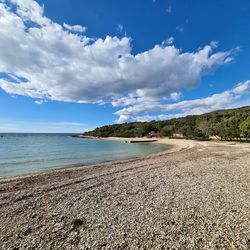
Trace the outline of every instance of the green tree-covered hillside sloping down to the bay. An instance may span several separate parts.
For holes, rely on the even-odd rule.
[[[249,140],[250,106],[190,115],[166,121],[114,124],[85,132],[95,137],[143,137],[149,134],[188,139]]]

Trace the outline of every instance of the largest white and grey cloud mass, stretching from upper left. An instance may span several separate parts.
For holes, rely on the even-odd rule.
[[[121,25],[118,28],[123,30]],[[132,54],[129,37],[93,39],[85,30],[81,25],[53,22],[36,1],[0,0],[0,47],[4,48],[0,72],[7,76],[0,78],[0,88],[34,98],[37,104],[111,103],[124,107],[117,111],[121,120],[145,120],[150,119],[149,112],[174,109],[163,103],[179,100],[181,90],[230,63],[235,53],[235,49],[215,52],[215,42],[183,52],[170,37]],[[238,86],[235,91],[239,95],[245,89]],[[181,102],[175,105],[177,109]]]

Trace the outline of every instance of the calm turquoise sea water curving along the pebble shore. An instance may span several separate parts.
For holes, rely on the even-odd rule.
[[[169,146],[73,138],[66,134],[0,134],[0,177],[133,158]]]

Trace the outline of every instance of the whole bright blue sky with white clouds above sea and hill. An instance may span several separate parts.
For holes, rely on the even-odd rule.
[[[250,1],[0,0],[0,132],[250,105]]]

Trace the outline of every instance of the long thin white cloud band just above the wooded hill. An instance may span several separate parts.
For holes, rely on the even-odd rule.
[[[140,120],[166,120],[187,115],[198,115],[218,109],[233,108],[250,104],[250,80],[238,83],[234,88],[205,98],[185,100],[177,103],[162,104],[159,102],[137,103],[118,110],[117,123]],[[244,101],[243,101],[244,97]],[[246,98],[245,98],[246,97]],[[247,98],[248,97],[248,98]],[[164,114],[163,112],[174,112]],[[148,113],[163,113],[148,115]]]

